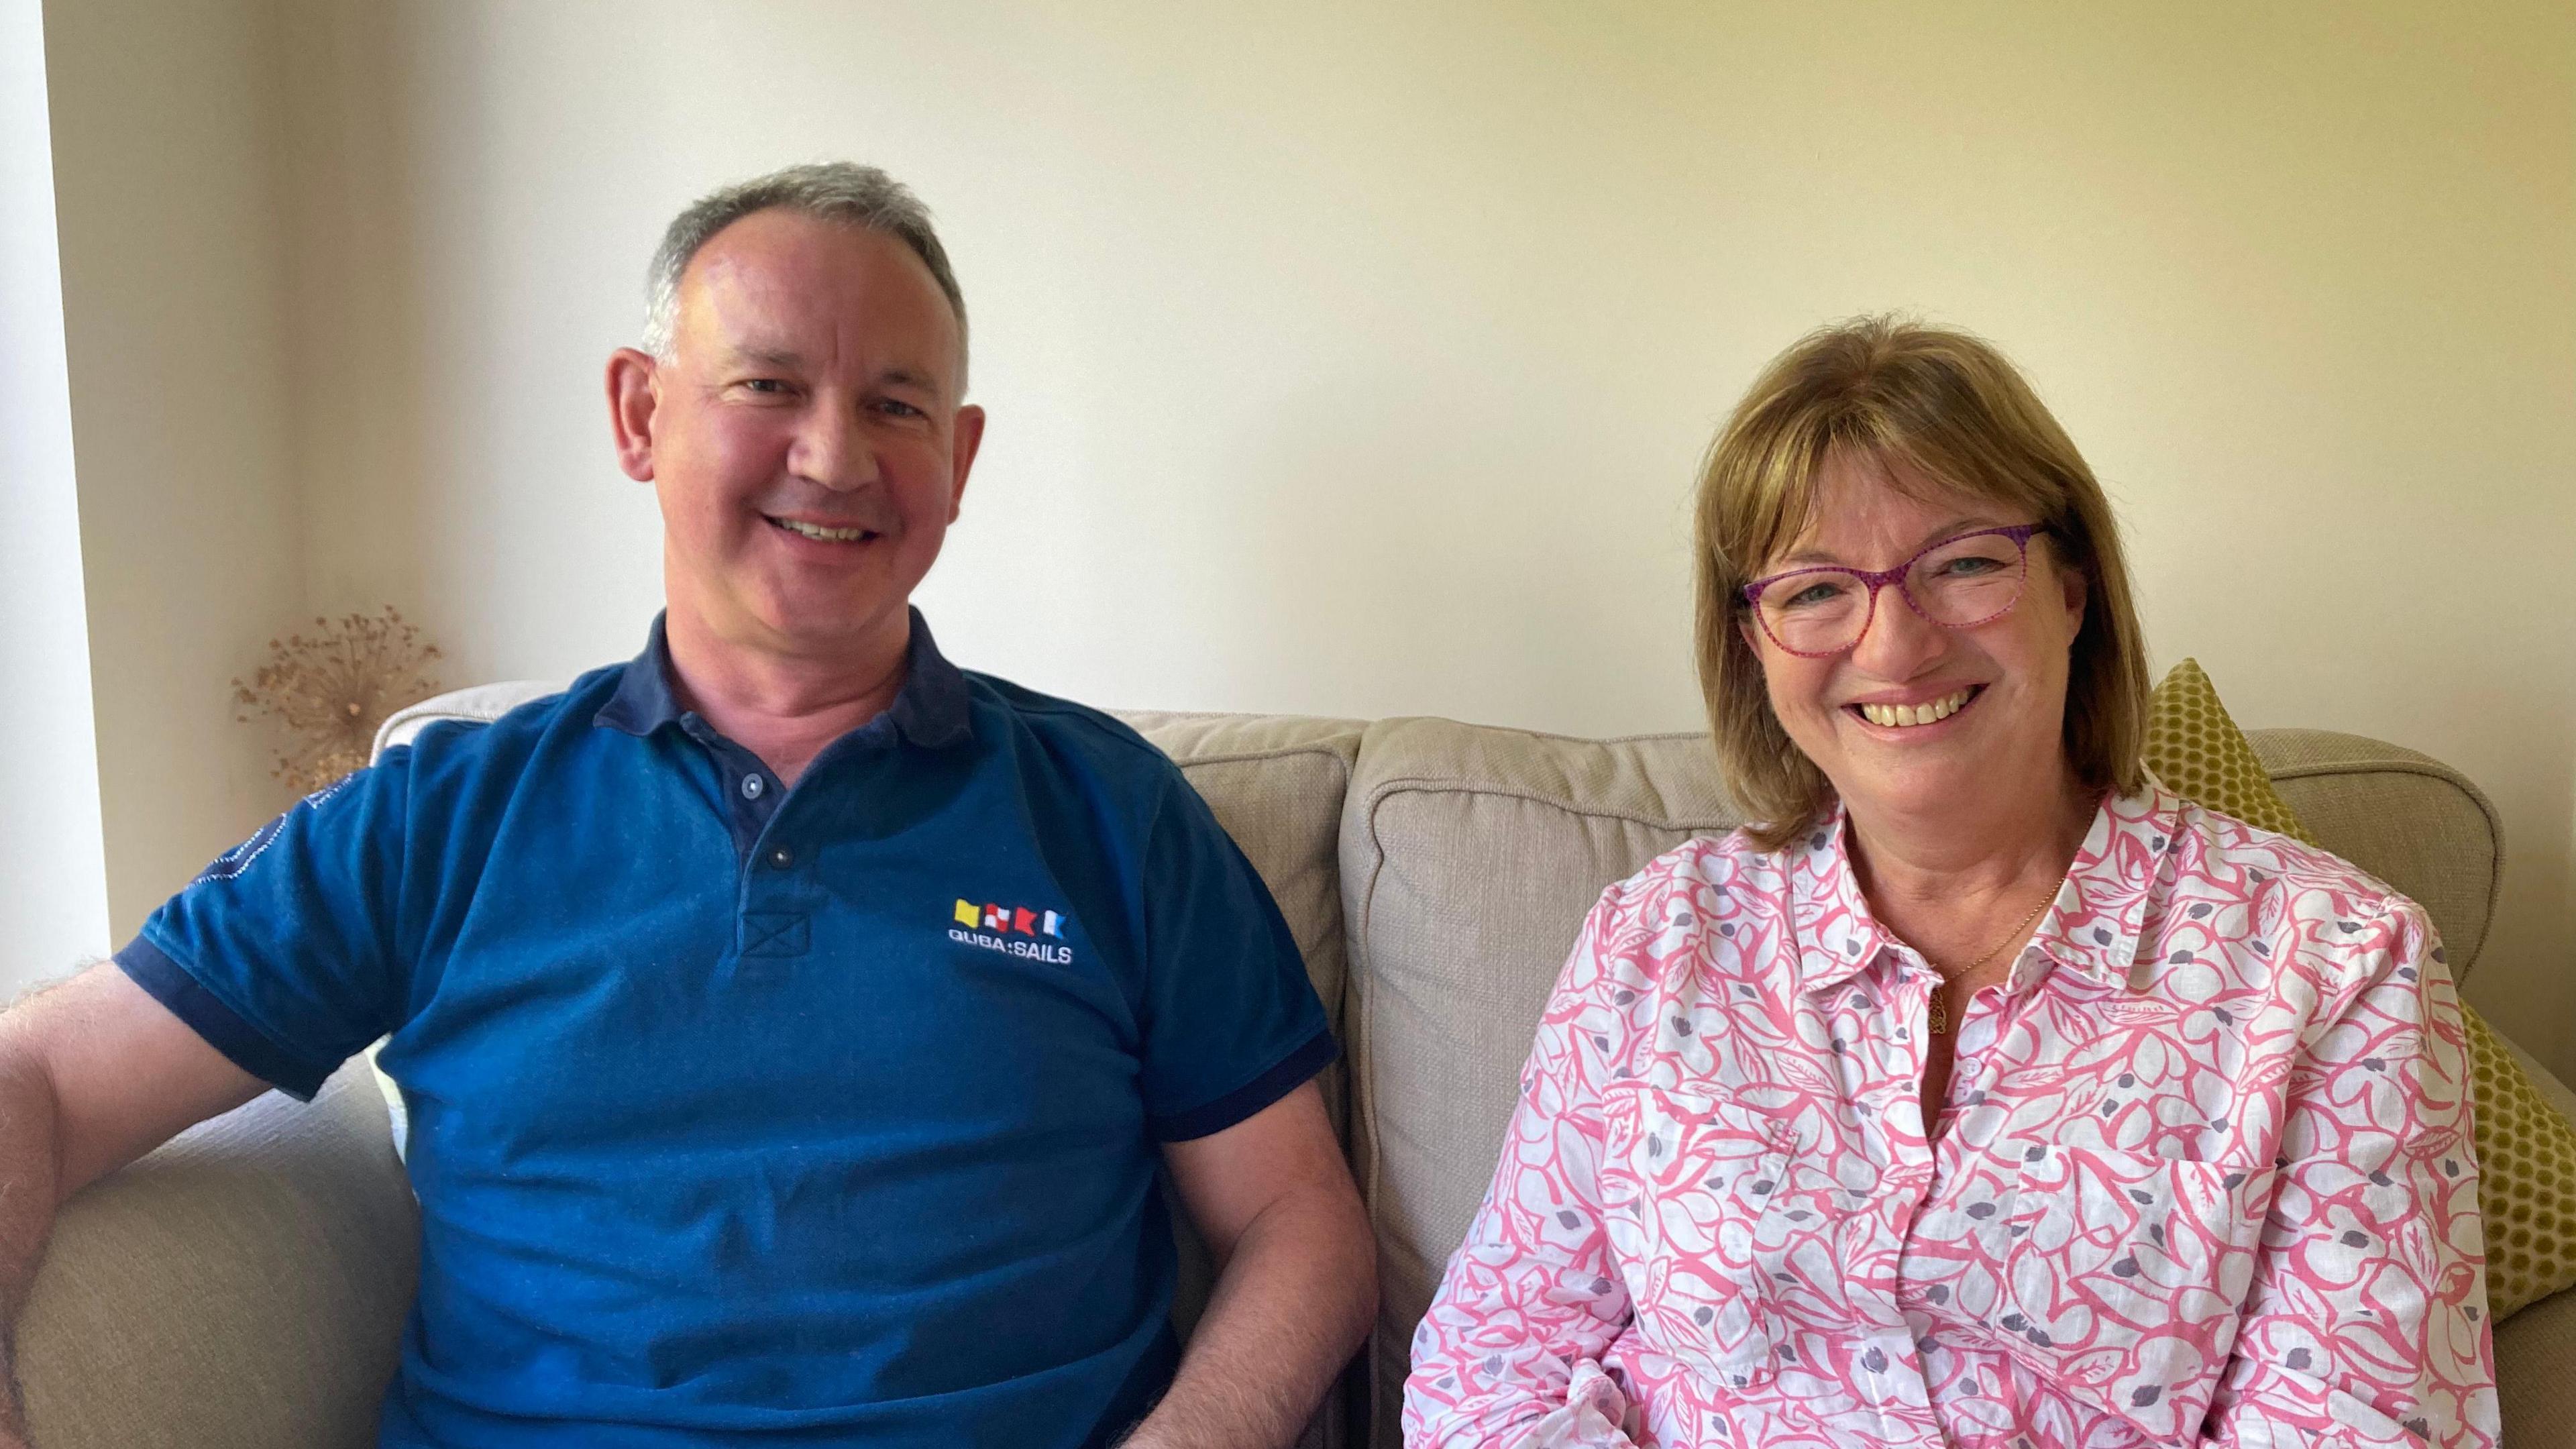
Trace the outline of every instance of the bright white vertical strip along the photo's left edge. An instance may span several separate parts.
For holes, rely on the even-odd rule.
[[[0,1000],[108,949],[44,5],[0,0]]]

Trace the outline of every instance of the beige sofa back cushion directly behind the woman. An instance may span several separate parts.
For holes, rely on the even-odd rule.
[[[2468,969],[2494,812],[2447,766],[2352,735],[2257,732],[2331,851],[2432,913]],[[1394,1446],[1414,1325],[1484,1199],[1538,1013],[1584,913],[1690,835],[1739,825],[1703,735],[1569,740],[1383,719],[1342,812],[1352,1158],[1378,1230],[1370,1444]]]

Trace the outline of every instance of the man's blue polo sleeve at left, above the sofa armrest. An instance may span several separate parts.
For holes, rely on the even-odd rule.
[[[309,1098],[394,1026],[410,750],[270,820],[116,951],[245,1073]]]

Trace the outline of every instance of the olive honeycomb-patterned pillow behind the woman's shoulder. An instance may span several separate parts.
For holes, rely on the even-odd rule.
[[[2148,696],[2146,768],[2164,789],[2246,825],[2316,846],[2197,660]],[[2514,1310],[2576,1287],[2576,1124],[2553,1109],[2496,1031],[2460,1003],[2486,1220],[2486,1310]]]

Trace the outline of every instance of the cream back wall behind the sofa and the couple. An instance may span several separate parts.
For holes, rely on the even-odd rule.
[[[289,456],[301,606],[402,603],[453,681],[636,647],[598,369],[662,219],[778,162],[940,211],[994,428],[922,601],[1103,704],[1687,727],[1698,449],[1906,307],[2087,446],[2159,663],[2496,797],[2470,995],[2576,1067],[2563,5],[278,5],[291,405],[234,454]]]

